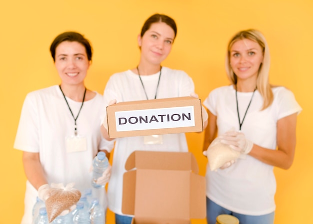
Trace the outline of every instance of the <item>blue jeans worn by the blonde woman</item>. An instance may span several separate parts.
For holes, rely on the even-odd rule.
[[[273,224],[274,212],[263,216],[248,216],[239,213],[231,212],[217,205],[206,197],[206,220],[207,224],[215,224],[216,217],[222,214],[227,214],[236,217],[239,224]]]

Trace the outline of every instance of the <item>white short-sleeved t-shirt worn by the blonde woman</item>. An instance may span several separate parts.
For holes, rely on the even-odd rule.
[[[277,121],[301,107],[291,91],[284,87],[272,88],[274,100],[265,110],[260,110],[263,99],[256,90],[241,126],[241,132],[254,144],[276,149]],[[237,92],[240,122],[251,99],[252,92]],[[203,102],[217,116],[218,135],[232,127],[239,130],[235,90],[232,85],[214,89]],[[275,210],[276,181],[273,166],[247,155],[227,169],[217,172],[206,168],[206,195],[227,210],[252,216]]]

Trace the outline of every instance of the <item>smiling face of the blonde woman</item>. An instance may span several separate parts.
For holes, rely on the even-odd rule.
[[[263,61],[261,46],[250,39],[239,39],[233,43],[229,51],[231,69],[237,81],[256,81],[259,67]]]

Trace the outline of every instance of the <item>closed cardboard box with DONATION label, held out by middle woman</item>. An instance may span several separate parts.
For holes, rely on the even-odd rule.
[[[106,114],[110,138],[203,130],[201,100],[194,97],[120,102]]]

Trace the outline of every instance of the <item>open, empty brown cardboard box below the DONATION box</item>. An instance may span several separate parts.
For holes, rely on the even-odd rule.
[[[132,224],[190,224],[205,218],[205,178],[197,174],[192,153],[134,151],[125,169],[122,213],[134,215]]]

